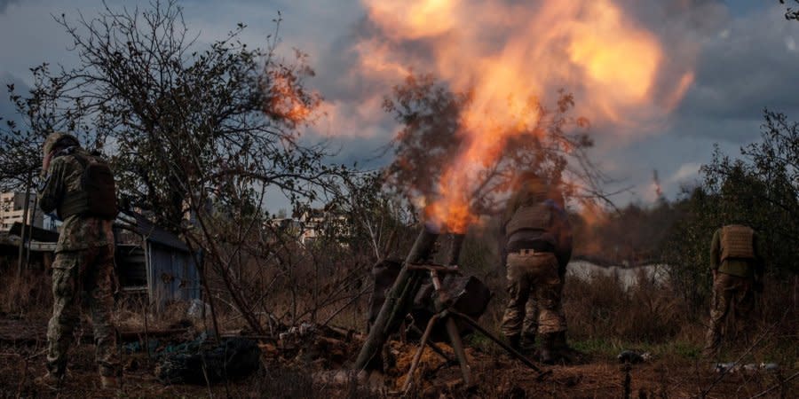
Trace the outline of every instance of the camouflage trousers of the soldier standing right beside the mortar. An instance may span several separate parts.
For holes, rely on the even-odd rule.
[[[511,253],[507,268],[510,299],[502,317],[502,333],[529,337],[536,329],[539,333],[566,331],[560,301],[563,278],[555,255]]]

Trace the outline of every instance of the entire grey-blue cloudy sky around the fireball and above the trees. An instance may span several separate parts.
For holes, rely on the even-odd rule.
[[[107,0],[112,8],[130,8],[137,3]],[[404,35],[399,37],[392,33],[397,29],[392,30],[391,17],[392,12],[401,14],[402,10],[383,7],[374,0],[179,2],[185,7],[188,27],[200,35],[199,45],[210,43],[237,22],[243,22],[248,25],[243,39],[263,46],[266,35],[273,33],[273,19],[280,11],[281,49],[288,54],[296,47],[310,55],[317,75],[309,85],[326,99],[328,113],[320,117],[312,134],[332,137],[341,148],[341,160],[369,160],[372,166],[385,161],[374,160],[376,150],[396,129],[390,115],[381,111],[380,102],[399,82],[399,74],[387,74],[382,69],[377,71],[380,73],[365,73],[364,49],[388,49],[393,57],[381,62],[407,60],[409,65],[404,67],[441,74],[440,68],[446,62],[439,59],[435,49],[440,43],[452,43],[442,37],[466,37],[473,42],[474,37],[458,36],[459,31],[477,35],[475,26],[483,24],[488,28],[475,37],[485,43],[474,54],[484,56],[491,54],[491,49],[502,48],[502,43],[518,40],[514,37],[518,28],[533,23],[524,19],[534,21],[545,13],[543,7],[534,5],[536,2],[491,3],[502,4],[521,18],[480,20],[491,12],[476,8],[477,2],[461,0],[463,10],[457,10],[460,19],[419,14],[423,26],[440,26],[441,32],[408,37],[405,29],[399,29]],[[635,35],[650,38],[661,48],[658,77],[647,90],[660,94],[653,95],[653,104],[646,108],[647,116],[633,118],[634,123],[621,126],[607,118],[603,121],[600,116],[590,131],[596,140],[592,157],[620,182],[617,187],[632,187],[631,192],[617,198],[619,202],[653,200],[655,169],[664,192],[673,198],[680,184],[696,178],[700,165],[710,159],[714,144],[726,153],[737,154],[741,145],[759,137],[763,107],[799,119],[799,96],[795,94],[799,87],[799,23],[784,20],[779,1],[613,0],[613,4],[623,10],[623,22],[635,27]],[[99,0],[0,0],[0,82],[25,87],[30,83],[30,66],[45,61],[74,65],[75,55],[68,51],[66,35],[51,15],[66,13],[67,18],[74,19],[80,12],[91,18],[101,6]],[[520,11],[519,7],[529,10]],[[383,17],[376,18],[380,14],[375,14],[375,10],[383,10]],[[497,14],[507,18],[508,13]],[[468,21],[473,24],[462,25]],[[538,29],[540,35],[541,27]],[[383,43],[390,44],[384,47]],[[538,61],[533,57],[529,62]],[[690,84],[678,90],[680,78],[685,76],[692,78],[686,81]],[[569,87],[569,82],[565,79],[558,84],[575,92],[578,103],[585,95],[581,110],[591,113],[590,108],[598,104],[589,99],[593,96],[591,89]],[[11,113],[6,98],[0,98],[0,116],[12,117]],[[618,133],[622,130],[624,134]]]

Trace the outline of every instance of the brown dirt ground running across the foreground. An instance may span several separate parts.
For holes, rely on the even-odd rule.
[[[320,376],[346,368],[357,356],[360,336],[329,337],[317,334],[292,345],[262,340],[262,368],[245,379],[215,386],[164,385],[154,377],[155,361],[146,354],[123,355],[123,389],[99,387],[91,340],[70,352],[66,386],[56,393],[37,386],[33,379],[44,374],[44,321],[0,318],[0,397],[385,397],[397,395],[415,346],[392,341],[386,352],[388,369],[381,390],[368,389],[353,380],[332,382]],[[178,334],[166,338],[181,340]],[[162,338],[162,340],[165,340]],[[445,350],[449,350],[442,345]],[[490,352],[490,353],[489,353]],[[684,398],[799,397],[795,365],[779,372],[734,372],[722,376],[712,365],[678,356],[654,358],[644,364],[625,366],[613,356],[586,354],[586,363],[546,367],[538,374],[494,350],[468,348],[473,387],[464,387],[457,365],[426,349],[415,376],[415,397],[561,397],[561,398]],[[629,381],[629,382],[626,382]],[[712,388],[711,388],[712,387]]]

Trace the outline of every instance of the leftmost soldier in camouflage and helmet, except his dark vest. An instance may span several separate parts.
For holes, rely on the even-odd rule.
[[[74,214],[65,208],[82,190],[83,170],[93,156],[75,137],[53,133],[44,142],[39,207],[58,211],[63,219],[52,263],[52,317],[47,327],[47,374],[40,382],[59,387],[67,371],[67,350],[80,323],[80,309],[88,305],[94,326],[96,360],[103,387],[118,386],[119,358],[116,330],[111,321],[114,304],[112,273],[114,233],[107,217]],[[116,205],[114,204],[114,207]],[[69,215],[72,214],[72,215]],[[66,217],[65,217],[66,216]]]

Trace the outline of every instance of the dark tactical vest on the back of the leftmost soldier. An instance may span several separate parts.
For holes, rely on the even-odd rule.
[[[116,185],[114,174],[108,164],[91,155],[71,154],[81,166],[80,190],[67,192],[59,207],[61,219],[71,215],[99,217],[113,220],[119,213],[116,206]]]

